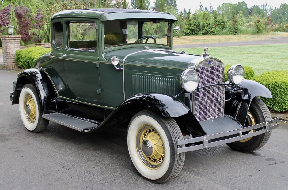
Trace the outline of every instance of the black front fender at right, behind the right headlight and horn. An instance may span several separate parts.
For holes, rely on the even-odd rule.
[[[261,96],[264,98],[272,98],[272,94],[268,88],[264,85],[255,82],[253,80],[244,79],[240,84],[243,88],[248,89],[248,99],[243,100],[241,98],[231,98],[230,95],[225,94],[225,99],[229,101],[225,101],[225,114],[234,117],[237,121],[240,122],[242,126],[245,125],[246,117],[248,114],[249,106],[256,96]]]

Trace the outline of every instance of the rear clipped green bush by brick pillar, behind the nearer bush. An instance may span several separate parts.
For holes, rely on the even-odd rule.
[[[28,47],[22,50],[17,50],[15,54],[15,60],[17,61],[18,66],[24,69],[31,68],[27,60],[28,58],[27,55],[31,53],[32,51],[43,50],[43,49],[44,47],[34,46],[34,47]]]

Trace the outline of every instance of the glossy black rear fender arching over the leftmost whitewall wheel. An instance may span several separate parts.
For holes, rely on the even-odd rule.
[[[51,80],[42,69],[26,69],[18,75],[12,104],[19,104],[21,89],[25,84],[29,83],[32,83],[38,92],[42,114],[57,111],[55,89]]]

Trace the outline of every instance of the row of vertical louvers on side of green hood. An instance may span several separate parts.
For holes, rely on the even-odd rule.
[[[177,82],[178,80],[175,77],[135,73],[132,75],[133,95],[142,92],[160,92],[175,95]]]

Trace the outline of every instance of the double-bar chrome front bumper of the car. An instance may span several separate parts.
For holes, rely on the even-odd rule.
[[[248,132],[248,131],[259,129],[262,127],[265,127],[265,128],[255,131],[255,132],[250,132],[246,135],[242,135],[243,132]],[[232,131],[226,131],[226,132],[217,133],[213,135],[195,137],[195,138],[184,139],[184,140],[178,139],[176,152],[181,153],[181,152],[195,151],[195,150],[199,150],[199,149],[203,149],[207,147],[214,147],[214,146],[218,146],[221,144],[232,143],[238,140],[243,140],[243,139],[250,138],[252,136],[260,135],[262,133],[271,131],[272,129],[275,129],[277,127],[278,127],[278,117],[267,122],[259,123],[256,125],[251,125],[251,126],[240,128],[240,129],[235,129]],[[224,140],[213,141],[214,139],[231,136],[231,135],[238,135],[238,136],[224,139]],[[202,144],[199,144],[199,142],[202,142]],[[197,145],[193,145],[193,143],[197,143]],[[191,144],[191,146],[180,148],[180,145],[186,145],[186,144]]]

